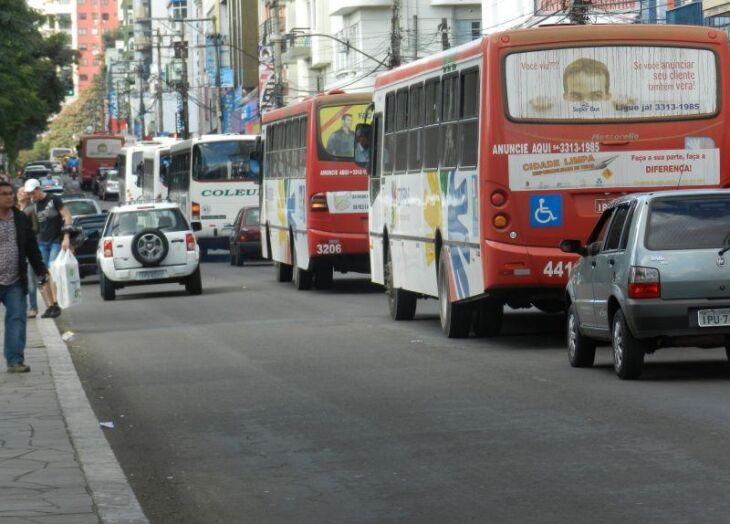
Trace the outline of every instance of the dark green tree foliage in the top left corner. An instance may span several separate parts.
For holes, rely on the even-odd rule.
[[[46,129],[65,95],[58,71],[76,59],[65,34],[44,37],[24,1],[0,0],[0,145],[12,161]]]

